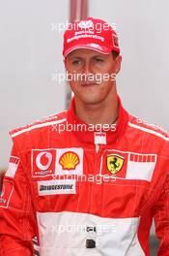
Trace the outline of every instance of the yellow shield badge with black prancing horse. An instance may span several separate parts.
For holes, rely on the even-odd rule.
[[[124,165],[124,157],[118,154],[112,154],[107,156],[107,169],[108,171],[115,175],[121,171]]]

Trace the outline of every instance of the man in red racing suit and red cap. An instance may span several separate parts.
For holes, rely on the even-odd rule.
[[[11,132],[1,254],[33,255],[38,236],[43,256],[148,256],[155,218],[157,255],[169,255],[169,138],[123,108],[116,32],[75,22],[63,54],[70,110]]]

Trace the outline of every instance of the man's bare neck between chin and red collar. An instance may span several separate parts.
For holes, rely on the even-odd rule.
[[[74,97],[76,116],[88,124],[112,124],[118,117],[117,93],[97,104],[86,104]],[[77,107],[78,106],[78,107]]]

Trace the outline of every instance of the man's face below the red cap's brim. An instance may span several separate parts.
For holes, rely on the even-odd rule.
[[[98,104],[113,93],[121,56],[102,54],[93,49],[75,49],[66,57],[70,89],[85,104]]]

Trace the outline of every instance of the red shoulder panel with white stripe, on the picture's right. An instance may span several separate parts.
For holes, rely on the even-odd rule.
[[[139,117],[130,115],[128,126],[133,130],[153,136],[156,139],[169,141],[169,133],[161,126],[148,123]]]

